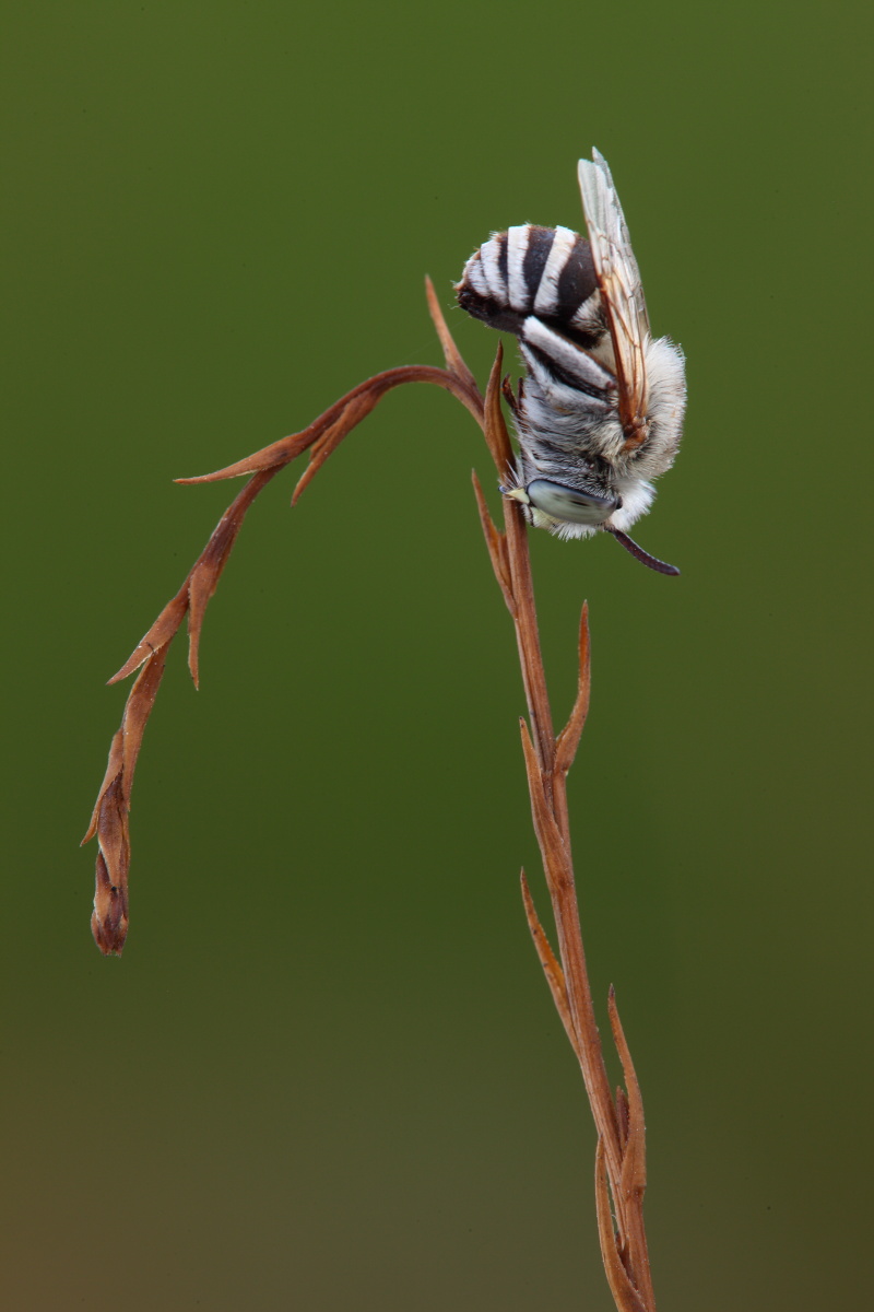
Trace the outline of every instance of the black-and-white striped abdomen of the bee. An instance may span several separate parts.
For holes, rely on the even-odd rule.
[[[600,299],[588,241],[570,228],[535,223],[498,232],[480,247],[456,291],[468,314],[518,337],[529,315],[586,336],[594,319],[587,302]]]

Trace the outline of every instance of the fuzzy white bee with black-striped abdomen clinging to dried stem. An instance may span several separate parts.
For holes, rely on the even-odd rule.
[[[625,530],[674,463],[685,411],[681,350],[650,335],[641,274],[607,160],[579,161],[588,240],[570,228],[498,232],[468,260],[459,304],[511,332],[527,366],[514,411],[519,458],[506,496],[560,538],[612,533],[660,573]]]

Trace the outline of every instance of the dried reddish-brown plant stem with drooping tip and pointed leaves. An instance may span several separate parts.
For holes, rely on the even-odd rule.
[[[140,673],[124,706],[115,733],[106,775],[92,823],[83,842],[97,836],[97,884],[92,933],[105,955],[121,955],[128,925],[127,878],[130,867],[130,798],[134,770],[155,698],[160,687],[166,652],[182,619],[189,617],[189,669],[197,686],[200,631],[207,604],[215,592],[246,510],[263,487],[297,455],[309,451],[309,463],[297,482],[292,504],[314,478],[329,455],[373,409],[381,398],[404,383],[434,383],[452,392],[480,424],[499,478],[512,462],[512,450],[501,411],[502,391],[512,400],[508,383],[501,380],[502,352],[498,349],[485,400],[473,374],[464,363],[443,319],[430,279],[428,308],[446,357],[446,369],[408,366],[376,374],[341,398],[301,433],[292,433],[254,455],[215,474],[178,479],[180,483],[214,483],[219,479],[252,475],[216,525],[203,552],[194,563],[177,594],[166,604],[152,627],[136,644],[128,660],[109,681],[115,684],[134,670]],[[655,1298],[643,1229],[646,1189],[645,1127],[641,1090],[625,1042],[611,989],[608,1000],[613,1042],[625,1077],[625,1089],[611,1093],[595,1019],[586,956],[579,925],[574,869],[571,863],[567,816],[567,771],[573,765],[586,724],[590,697],[588,614],[583,606],[579,627],[579,680],[567,723],[556,735],[546,676],[540,651],[537,614],[528,555],[527,527],[518,501],[504,497],[504,527],[498,529],[489,514],[482,488],[473,475],[491,565],[516,630],[519,661],[531,723],[520,722],[522,749],[528,774],[528,791],[535,832],[542,855],[546,887],[552,903],[558,956],[540,924],[522,871],[522,896],[531,937],[540,958],[553,1002],[577,1055],[598,1130],[595,1197],[604,1269],[620,1312],[655,1312]]]

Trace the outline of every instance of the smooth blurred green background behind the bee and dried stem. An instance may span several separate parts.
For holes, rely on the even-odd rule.
[[[5,1305],[612,1307],[594,1132],[528,942],[508,618],[466,413],[394,394],[266,491],[182,644],[104,960],[104,687],[238,484],[422,294],[608,157],[688,357],[636,537],[533,542],[592,983],[642,1080],[660,1305],[870,1287],[857,4],[13,4],[3,20]],[[497,338],[448,308],[485,378]],[[507,344],[510,348],[511,342]],[[861,506],[854,501],[862,488]],[[493,495],[493,491],[490,491]],[[497,495],[493,495],[497,502]],[[867,1270],[866,1270],[867,1263]]]

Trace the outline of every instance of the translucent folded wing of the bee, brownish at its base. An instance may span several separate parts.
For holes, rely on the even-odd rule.
[[[620,419],[628,445],[639,446],[646,441],[643,348],[650,336],[650,320],[622,206],[607,160],[595,150],[591,160],[579,161],[579,189],[595,274],[613,340]]]

